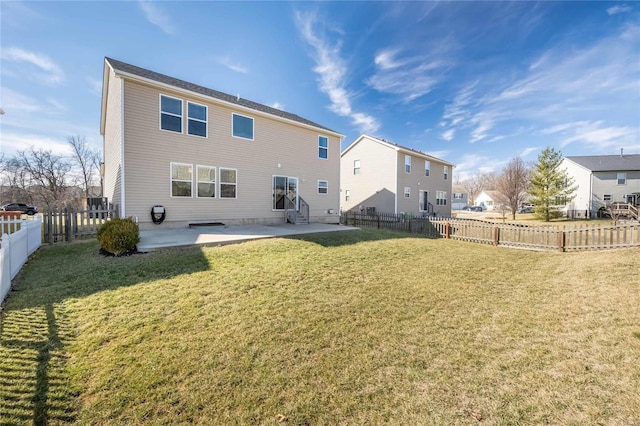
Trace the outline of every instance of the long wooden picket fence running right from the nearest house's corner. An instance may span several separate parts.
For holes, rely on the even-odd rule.
[[[340,223],[529,250],[583,251],[640,247],[640,224],[535,226],[475,219],[342,213]]]

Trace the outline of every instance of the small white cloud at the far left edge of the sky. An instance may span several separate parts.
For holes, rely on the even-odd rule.
[[[0,51],[0,58],[17,67],[18,70],[14,70],[13,73],[23,78],[27,77],[50,86],[62,84],[64,81],[62,68],[46,55],[19,47],[8,47]]]

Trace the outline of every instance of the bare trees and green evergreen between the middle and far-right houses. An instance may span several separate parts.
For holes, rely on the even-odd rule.
[[[557,206],[571,202],[576,190],[561,163],[562,153],[547,147],[533,164],[514,157],[499,174],[478,173],[459,183],[469,194],[470,204],[480,192],[494,190],[499,195],[496,207],[514,220],[518,208],[528,202],[534,205],[536,216],[548,222],[561,215]]]

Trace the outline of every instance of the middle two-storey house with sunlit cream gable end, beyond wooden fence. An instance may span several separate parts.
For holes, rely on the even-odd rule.
[[[342,211],[451,216],[453,164],[361,135],[341,154]]]

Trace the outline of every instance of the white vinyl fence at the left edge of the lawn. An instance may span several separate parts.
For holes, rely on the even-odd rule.
[[[5,219],[0,217],[0,303],[11,289],[11,280],[29,256],[42,244],[42,219]]]

